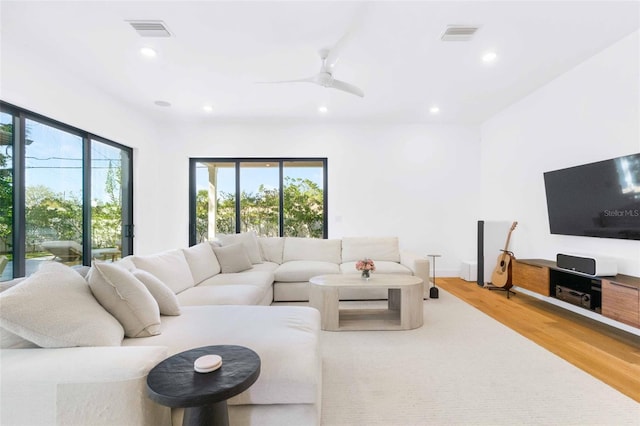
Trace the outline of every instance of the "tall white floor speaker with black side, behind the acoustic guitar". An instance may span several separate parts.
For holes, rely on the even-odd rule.
[[[478,221],[478,273],[477,284],[484,287],[491,282],[491,274],[498,264],[498,256],[504,249],[513,222]],[[512,240],[513,241],[513,237]]]

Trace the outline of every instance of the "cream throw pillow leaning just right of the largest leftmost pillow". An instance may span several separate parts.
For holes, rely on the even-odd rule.
[[[160,334],[160,310],[149,290],[117,265],[93,262],[88,276],[95,298],[111,313],[127,337]]]

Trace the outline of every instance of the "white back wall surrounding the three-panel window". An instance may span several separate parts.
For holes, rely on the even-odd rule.
[[[329,237],[398,236],[402,248],[438,253],[438,273],[457,275],[475,247],[480,144],[476,127],[438,125],[190,125],[166,129],[167,151],[146,153],[167,167],[163,197],[137,194],[172,233],[163,246],[188,242],[189,157],[327,157]],[[145,214],[143,214],[143,217]],[[157,249],[144,245],[142,250]]]

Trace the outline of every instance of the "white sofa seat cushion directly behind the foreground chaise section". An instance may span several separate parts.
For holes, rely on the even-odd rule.
[[[177,297],[182,306],[199,305],[258,305],[264,291],[253,285],[199,285]]]

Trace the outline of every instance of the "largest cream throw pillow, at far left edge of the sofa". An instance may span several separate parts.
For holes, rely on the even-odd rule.
[[[56,262],[0,294],[0,326],[44,348],[119,346],[124,336],[80,274]]]

